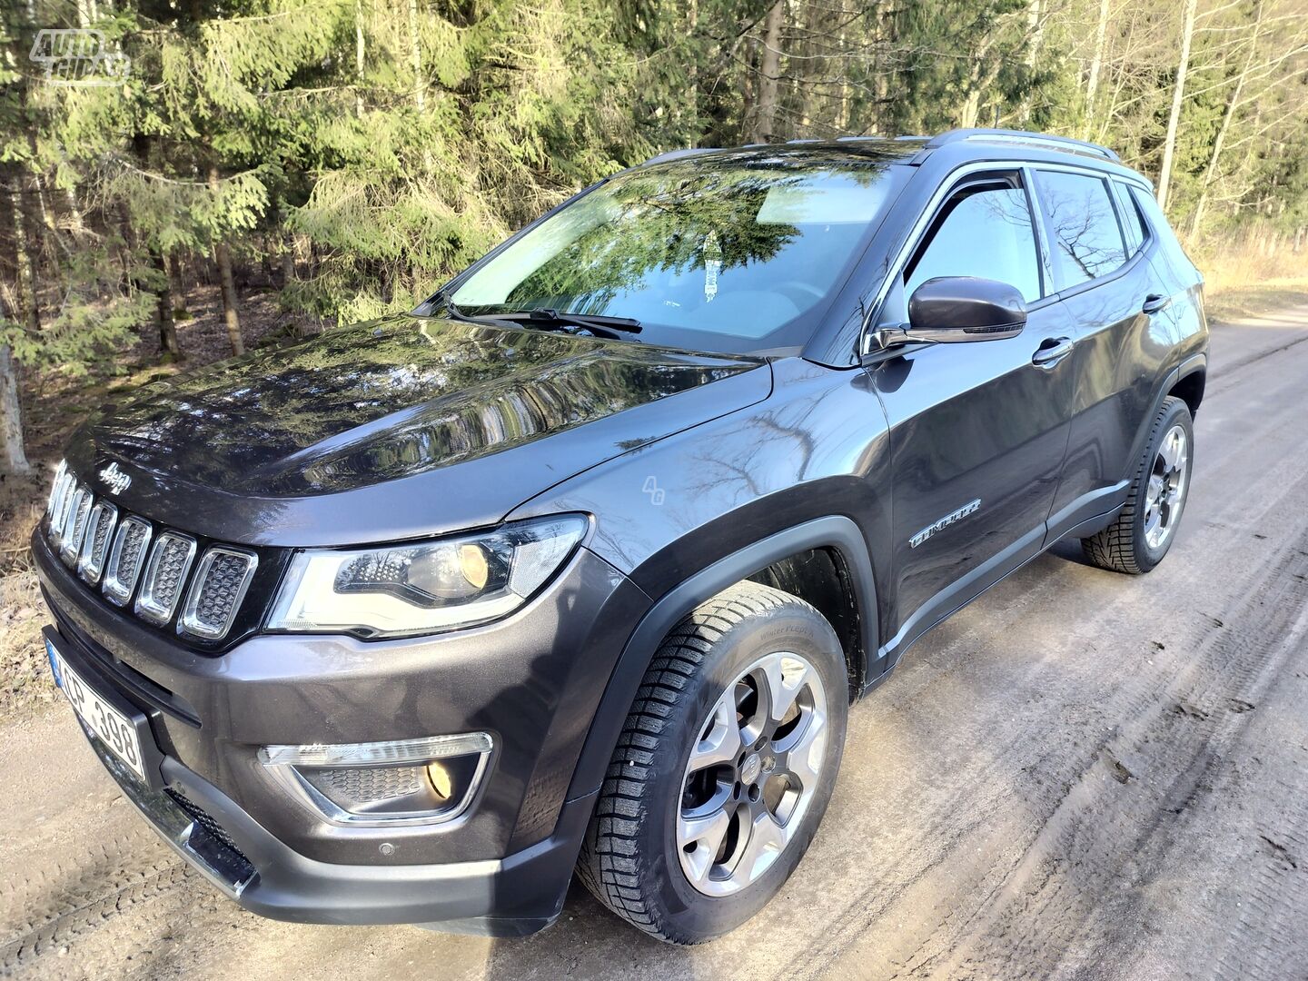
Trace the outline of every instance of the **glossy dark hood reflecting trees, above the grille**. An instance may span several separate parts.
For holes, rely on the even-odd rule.
[[[131,484],[98,493],[198,534],[349,544],[494,523],[769,391],[760,358],[398,317],[106,404],[69,462],[118,463]]]

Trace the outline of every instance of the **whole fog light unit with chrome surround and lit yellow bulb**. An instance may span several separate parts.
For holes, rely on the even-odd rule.
[[[490,757],[485,732],[386,743],[267,746],[259,761],[334,824],[438,824],[472,803]]]

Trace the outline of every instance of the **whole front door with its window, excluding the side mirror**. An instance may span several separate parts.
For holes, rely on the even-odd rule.
[[[892,649],[1036,555],[1067,450],[1074,324],[1052,296],[1022,170],[972,175],[943,198],[879,324],[935,276],[1016,286],[1027,326],[1005,340],[909,345],[870,369],[891,425]]]

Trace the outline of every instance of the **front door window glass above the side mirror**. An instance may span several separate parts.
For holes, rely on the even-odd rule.
[[[904,277],[904,296],[937,276],[980,276],[1040,298],[1040,260],[1027,195],[1019,187],[978,184],[946,203],[926,245]]]

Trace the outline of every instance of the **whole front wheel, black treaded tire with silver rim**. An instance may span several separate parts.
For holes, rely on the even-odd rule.
[[[780,727],[766,721],[780,709],[764,710],[773,691],[778,705],[793,700]],[[582,883],[662,940],[702,943],[734,930],[781,889],[812,841],[848,712],[840,641],[808,603],[756,582],[708,600],[645,672],[582,845]],[[710,824],[693,842],[678,837]]]

